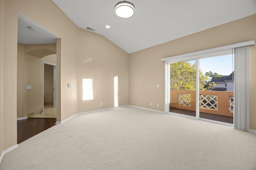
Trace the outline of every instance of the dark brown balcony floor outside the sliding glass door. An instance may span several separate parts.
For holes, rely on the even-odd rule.
[[[177,108],[170,107],[170,112],[180,113],[180,114],[196,117],[196,111],[190,111],[190,110],[177,109]],[[214,115],[214,114],[203,113],[203,112],[199,113],[199,117],[204,118],[204,119],[210,119],[210,120],[221,121],[221,122],[233,124],[233,117]]]

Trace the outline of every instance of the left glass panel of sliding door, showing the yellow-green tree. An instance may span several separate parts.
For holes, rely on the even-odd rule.
[[[196,60],[170,63],[169,111],[196,117]]]

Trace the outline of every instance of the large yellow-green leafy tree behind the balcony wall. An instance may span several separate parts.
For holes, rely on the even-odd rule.
[[[205,88],[208,76],[199,70],[199,90]],[[170,88],[171,90],[196,90],[196,64],[182,61],[170,64]]]

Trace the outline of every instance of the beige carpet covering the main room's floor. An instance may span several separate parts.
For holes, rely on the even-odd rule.
[[[22,142],[1,170],[256,170],[256,133],[135,107],[78,115]]]

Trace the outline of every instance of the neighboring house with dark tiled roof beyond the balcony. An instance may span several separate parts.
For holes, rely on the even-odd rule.
[[[215,83],[213,91],[234,91],[234,71],[228,76],[213,78],[210,83]]]

